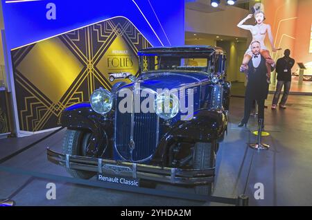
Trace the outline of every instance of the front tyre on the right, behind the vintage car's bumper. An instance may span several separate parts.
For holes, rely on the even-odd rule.
[[[196,143],[193,153],[193,168],[194,169],[207,169],[214,167],[216,154],[216,142],[212,143]],[[213,190],[213,183],[205,185],[196,185],[196,194],[211,195]]]

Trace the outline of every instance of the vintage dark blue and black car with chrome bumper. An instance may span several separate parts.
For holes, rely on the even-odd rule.
[[[218,143],[227,131],[225,51],[159,47],[138,55],[139,77],[111,91],[97,89],[90,102],[62,112],[62,153],[48,149],[49,161],[78,178],[117,176],[129,185],[150,181],[210,194]],[[136,109],[140,104],[149,111]]]

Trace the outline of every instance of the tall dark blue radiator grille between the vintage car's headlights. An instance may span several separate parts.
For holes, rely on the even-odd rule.
[[[156,113],[121,113],[118,107],[123,97],[116,96],[115,150],[125,161],[148,161],[158,144],[159,117]],[[145,98],[140,99],[141,103]]]

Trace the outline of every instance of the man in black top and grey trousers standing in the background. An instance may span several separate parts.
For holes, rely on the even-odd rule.
[[[284,94],[279,102],[279,107],[286,109],[286,101],[288,98],[289,90],[291,89],[291,68],[295,64],[295,59],[289,57],[291,51],[286,49],[284,51],[284,57],[277,59],[276,72],[277,72],[277,85],[275,95],[272,101],[271,109],[276,109],[277,102],[279,102],[279,95],[281,95],[281,88],[284,85]]]

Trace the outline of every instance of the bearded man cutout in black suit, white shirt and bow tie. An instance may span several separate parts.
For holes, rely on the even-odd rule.
[[[244,118],[241,120],[239,127],[246,126],[253,100],[256,100],[258,104],[258,119],[264,120],[264,101],[268,98],[269,86],[266,77],[266,62],[271,65],[272,71],[275,67],[275,62],[272,59],[264,59],[261,56],[259,42],[252,42],[251,48],[252,59],[250,59],[247,67],[241,66],[241,71],[245,71],[248,74],[248,83],[245,91]]]

